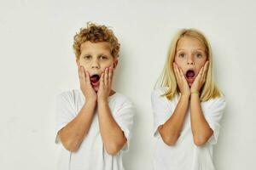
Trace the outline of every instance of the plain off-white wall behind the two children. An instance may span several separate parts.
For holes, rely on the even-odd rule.
[[[255,169],[255,1],[0,3],[1,169],[55,169],[55,96],[79,88],[73,36],[88,21],[111,26],[121,43],[114,89],[137,107],[126,170],[152,169],[150,94],[180,28],[207,35],[216,82],[226,95],[217,169]]]

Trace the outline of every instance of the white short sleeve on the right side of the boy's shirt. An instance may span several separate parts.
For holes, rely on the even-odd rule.
[[[114,113],[114,119],[118,123],[119,127],[125,133],[125,138],[127,142],[122,148],[123,151],[129,150],[130,141],[131,141],[131,128],[133,125],[133,117],[135,114],[135,107],[132,102],[125,101],[119,110]]]

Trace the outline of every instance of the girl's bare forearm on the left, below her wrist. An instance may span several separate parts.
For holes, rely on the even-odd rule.
[[[184,118],[189,105],[189,95],[182,95],[172,116],[159,127],[159,132],[168,145],[176,143],[183,127]]]

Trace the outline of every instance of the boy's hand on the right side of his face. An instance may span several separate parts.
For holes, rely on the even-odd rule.
[[[111,92],[113,81],[113,66],[107,67],[105,69],[105,71],[102,73],[100,81],[100,88],[97,93],[98,101],[106,101],[108,100],[108,96]]]

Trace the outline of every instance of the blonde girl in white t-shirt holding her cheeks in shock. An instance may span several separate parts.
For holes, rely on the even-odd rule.
[[[213,79],[210,44],[200,31],[177,32],[151,101],[154,169],[214,170],[212,147],[225,100]]]

